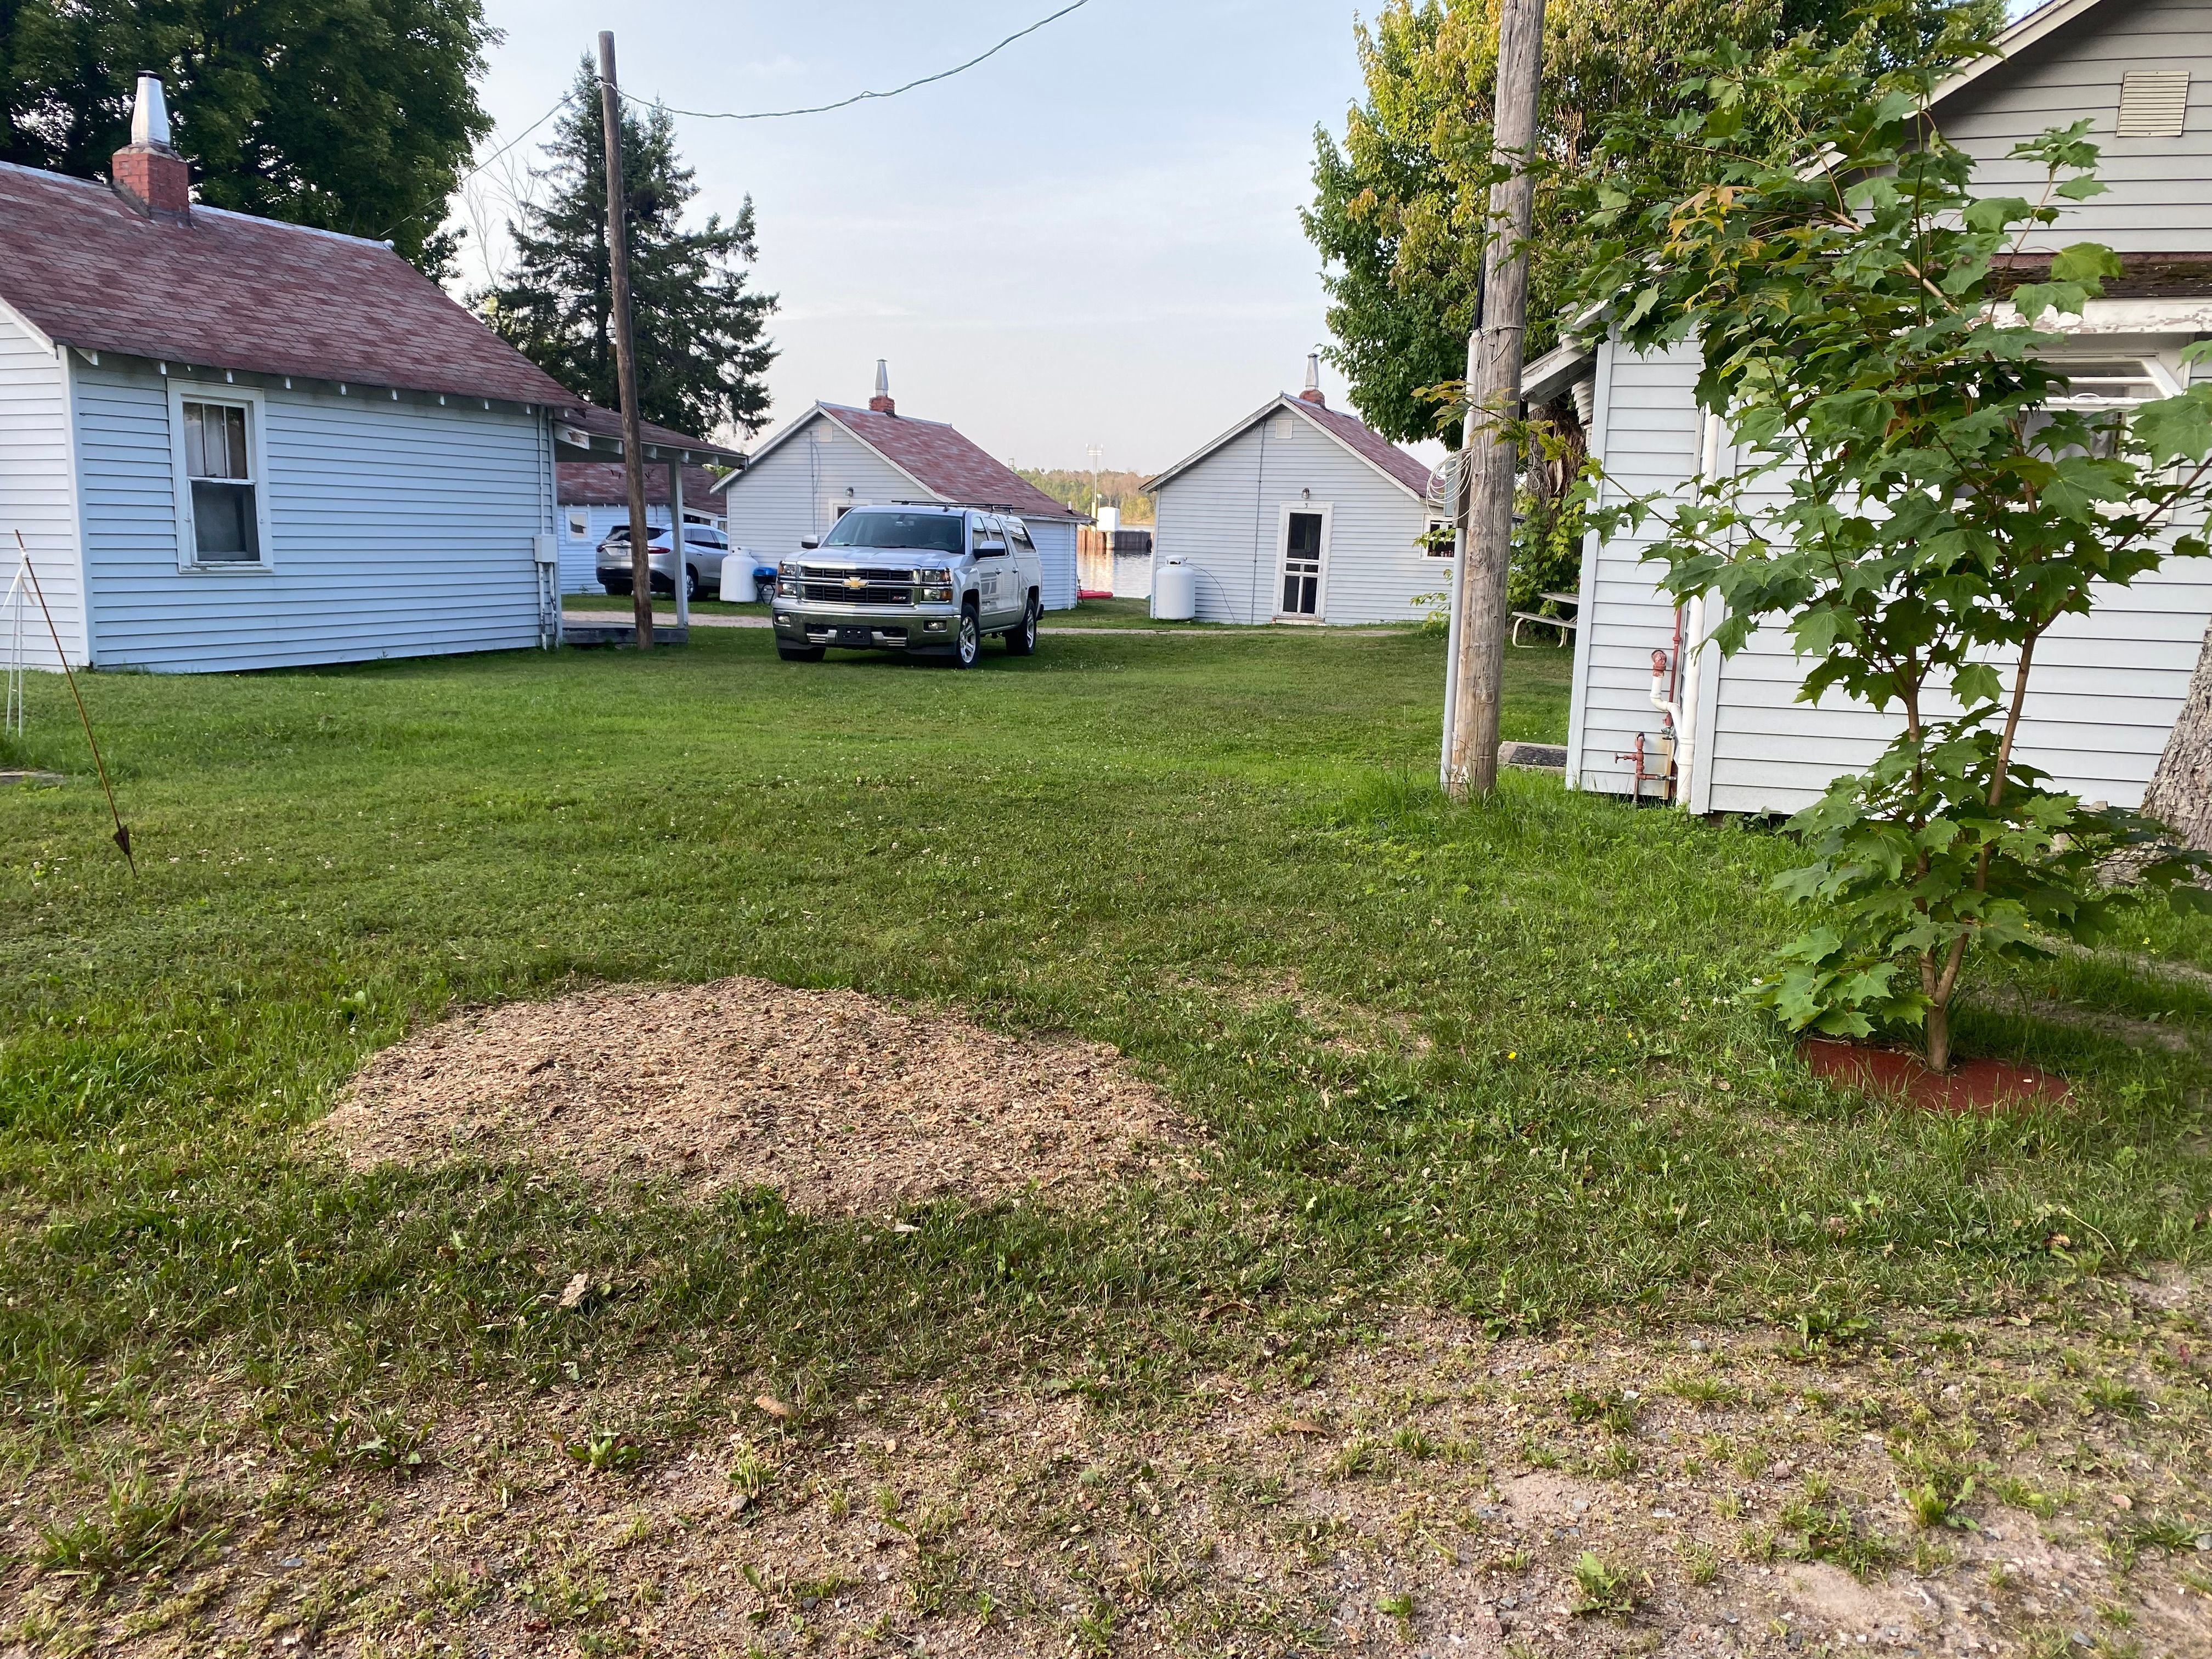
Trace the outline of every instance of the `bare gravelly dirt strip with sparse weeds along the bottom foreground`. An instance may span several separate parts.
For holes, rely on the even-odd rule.
[[[2183,1659],[2212,1652],[2212,1296],[2139,1312],[1834,1349],[1407,1314],[1159,1411],[922,1385],[776,1418],[752,1378],[619,1367],[416,1407],[414,1475],[195,1405],[159,1491],[190,1480],[206,1542],[166,1571],[38,1566],[111,1464],[0,1482],[0,1652]],[[1907,1504],[1931,1480],[1949,1517]]]

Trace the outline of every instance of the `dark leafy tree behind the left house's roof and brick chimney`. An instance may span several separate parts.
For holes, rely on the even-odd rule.
[[[482,0],[0,0],[0,161],[104,179],[159,71],[201,201],[392,239],[436,276],[495,40]]]

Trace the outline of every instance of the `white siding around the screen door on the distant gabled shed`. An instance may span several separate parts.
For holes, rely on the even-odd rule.
[[[1155,562],[1192,566],[1201,622],[1274,619],[1285,507],[1329,509],[1321,622],[1418,622],[1451,582],[1451,560],[1416,544],[1427,504],[1276,407],[1155,491]]]

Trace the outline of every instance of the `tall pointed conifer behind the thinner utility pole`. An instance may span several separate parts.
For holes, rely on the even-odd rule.
[[[692,434],[723,422],[759,431],[768,420],[763,376],[774,294],[745,290],[741,263],[757,257],[752,197],[728,223],[686,230],[699,195],[675,146],[668,111],[622,111],[622,173],[630,228],[630,296],[637,334],[637,409]],[[484,319],[538,367],[608,409],[617,407],[613,292],[606,270],[606,126],[591,60],[546,144],[542,204],[509,223],[509,281],[476,299]]]

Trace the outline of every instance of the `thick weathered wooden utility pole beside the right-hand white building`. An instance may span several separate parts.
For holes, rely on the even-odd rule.
[[[1467,429],[1460,440],[1458,653],[1444,708],[1444,792],[1498,787],[1498,699],[1506,666],[1506,564],[1520,445],[1504,431],[1520,403],[1528,332],[1528,230],[1535,217],[1535,104],[1544,77],[1544,0],[1504,0],[1491,150],[1513,173],[1491,186],[1482,243],[1482,321],[1467,341]]]

